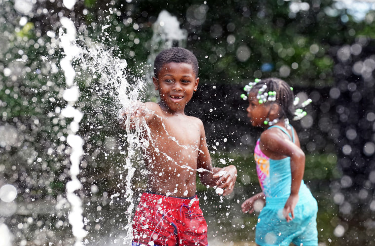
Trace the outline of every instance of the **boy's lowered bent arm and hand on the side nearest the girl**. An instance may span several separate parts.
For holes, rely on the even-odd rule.
[[[199,178],[204,185],[217,186],[218,188],[223,189],[223,195],[225,196],[233,191],[237,178],[237,169],[234,165],[229,165],[223,168],[212,166],[203,123],[200,122],[200,125],[201,137],[197,168],[204,168],[207,171],[199,172]]]

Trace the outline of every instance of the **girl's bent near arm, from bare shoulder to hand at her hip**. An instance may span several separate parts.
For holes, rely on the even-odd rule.
[[[277,128],[268,129],[262,133],[261,148],[262,151],[264,150],[263,153],[272,159],[279,160],[285,157],[291,159],[291,194],[283,210],[285,218],[290,221],[294,218],[294,208],[299,200],[298,193],[304,173],[305,155],[299,146]]]

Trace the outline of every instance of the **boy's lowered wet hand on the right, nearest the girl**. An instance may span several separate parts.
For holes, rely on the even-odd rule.
[[[225,166],[214,174],[214,178],[219,178],[216,185],[218,188],[223,189],[223,196],[226,196],[234,189],[237,179],[237,168],[234,165]]]

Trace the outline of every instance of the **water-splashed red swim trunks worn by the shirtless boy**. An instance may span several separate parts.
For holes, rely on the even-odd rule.
[[[133,218],[132,246],[207,246],[199,199],[143,193]]]

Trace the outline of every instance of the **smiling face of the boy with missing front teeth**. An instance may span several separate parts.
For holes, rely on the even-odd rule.
[[[171,111],[184,111],[199,82],[191,64],[166,63],[155,76],[153,84],[159,91],[161,102]]]

